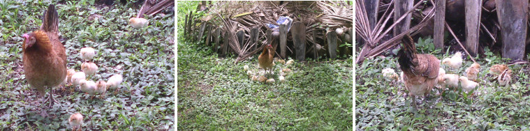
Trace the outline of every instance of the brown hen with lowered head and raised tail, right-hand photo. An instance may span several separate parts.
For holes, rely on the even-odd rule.
[[[432,54],[418,54],[411,36],[405,36],[403,47],[398,52],[397,59],[404,72],[403,80],[408,94],[412,96],[427,95],[438,83],[440,60]]]

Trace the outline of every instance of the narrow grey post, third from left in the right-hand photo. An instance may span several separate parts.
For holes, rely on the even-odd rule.
[[[443,35],[446,22],[446,0],[436,1],[434,8],[434,47],[443,51]]]

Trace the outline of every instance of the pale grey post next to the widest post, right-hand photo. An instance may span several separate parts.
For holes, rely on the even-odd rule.
[[[476,56],[478,51],[478,30],[480,29],[481,0],[467,0],[466,6],[466,47],[471,56]]]

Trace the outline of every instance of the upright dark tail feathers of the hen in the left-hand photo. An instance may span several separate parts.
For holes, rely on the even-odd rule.
[[[57,14],[57,9],[55,9],[53,4],[48,6],[48,9],[44,12],[43,16],[43,25],[41,26],[41,30],[57,32],[59,29],[59,15]]]

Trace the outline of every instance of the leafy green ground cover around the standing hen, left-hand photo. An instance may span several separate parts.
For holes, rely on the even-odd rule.
[[[85,130],[170,130],[175,126],[175,55],[173,13],[148,17],[145,29],[132,29],[128,18],[138,6],[94,1],[55,3],[59,35],[65,44],[68,68],[80,70],[79,50],[94,47],[99,69],[90,80],[124,75],[116,94],[89,99],[79,91],[54,88],[58,101],[42,117],[41,98],[22,70],[23,33],[41,26],[49,2],[0,1],[0,128],[7,130],[65,130],[68,117],[80,112]],[[102,15],[98,21],[89,15]],[[66,86],[65,88],[75,88]],[[50,92],[50,91],[47,91]]]

